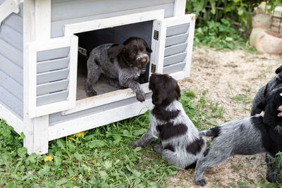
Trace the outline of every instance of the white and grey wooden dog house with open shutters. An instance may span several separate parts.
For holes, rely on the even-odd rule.
[[[142,37],[153,50],[151,73],[188,77],[195,15],[185,0],[0,0],[0,118],[24,132],[27,153],[48,142],[130,118],[152,107],[148,84],[140,103],[131,89],[79,99],[78,41]]]

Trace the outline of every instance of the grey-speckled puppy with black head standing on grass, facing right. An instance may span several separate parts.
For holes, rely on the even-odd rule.
[[[282,105],[282,84],[272,90],[259,104],[264,115],[235,120],[210,130],[200,132],[200,136],[212,137],[204,158],[197,162],[194,180],[198,185],[207,184],[202,177],[204,170],[226,161],[229,156],[266,153],[268,166],[266,179],[276,182],[280,174],[280,163],[275,163],[275,155],[282,151],[282,118],[278,117],[278,106]],[[278,160],[280,162],[280,160]]]

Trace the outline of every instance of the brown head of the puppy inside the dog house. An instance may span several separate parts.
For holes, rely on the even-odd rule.
[[[144,39],[139,37],[130,37],[121,45],[113,45],[108,49],[109,58],[118,57],[118,63],[122,68],[136,67],[139,69],[145,68],[149,62],[147,52],[151,53]]]

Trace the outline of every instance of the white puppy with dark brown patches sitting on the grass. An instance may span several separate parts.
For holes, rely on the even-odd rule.
[[[152,74],[149,79],[154,108],[150,113],[150,125],[140,140],[132,142],[133,147],[146,146],[154,139],[161,139],[153,149],[169,163],[179,168],[195,168],[202,158],[206,141],[186,115],[178,101],[180,88],[171,76]]]

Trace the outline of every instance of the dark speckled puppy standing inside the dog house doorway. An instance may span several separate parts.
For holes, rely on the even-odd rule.
[[[152,49],[138,37],[130,37],[120,45],[103,44],[92,49],[87,60],[87,96],[97,95],[93,84],[104,74],[112,86],[118,89],[130,87],[138,101],[145,101],[145,92],[136,80],[149,62],[147,52]]]

